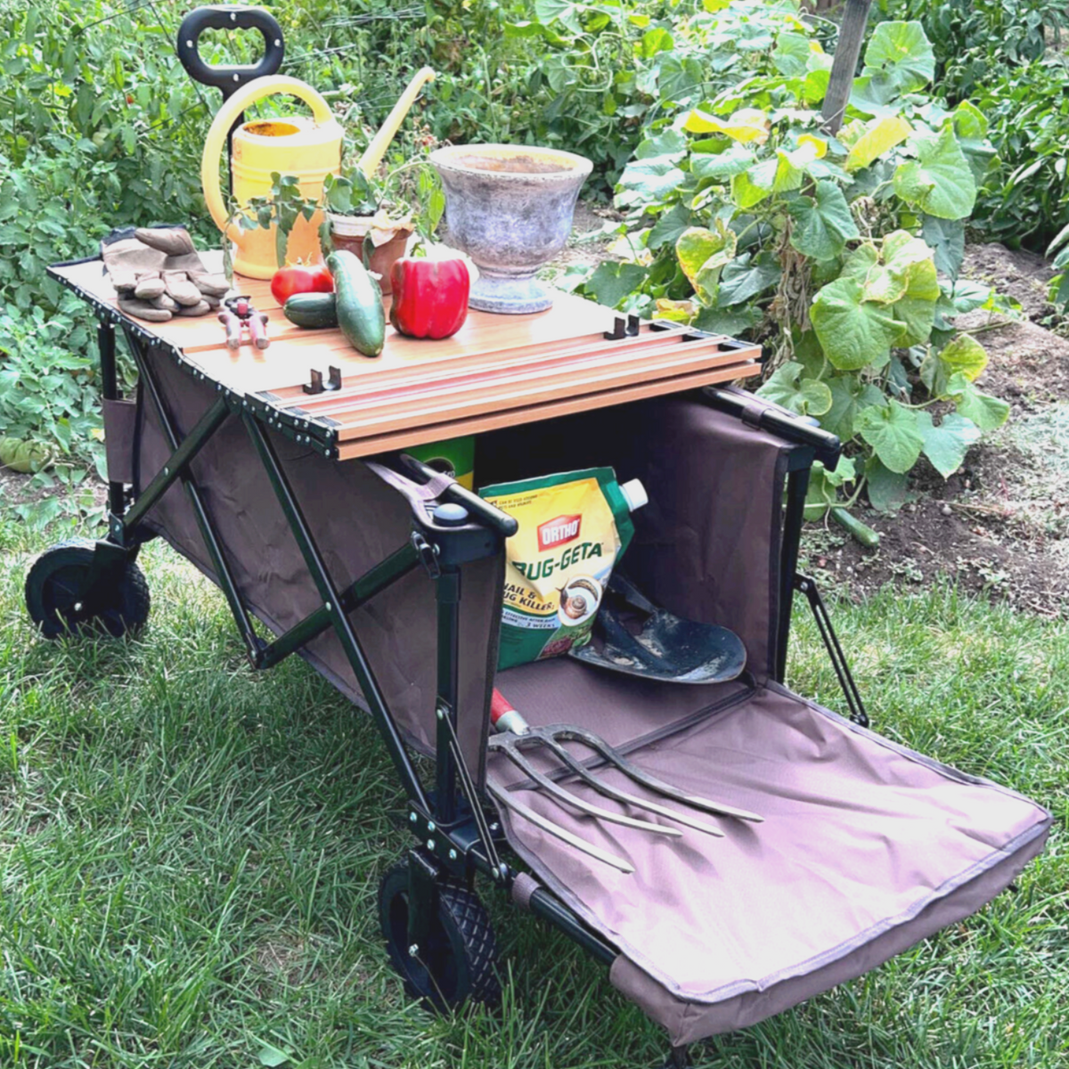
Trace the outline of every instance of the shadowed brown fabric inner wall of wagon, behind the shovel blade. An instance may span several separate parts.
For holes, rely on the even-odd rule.
[[[650,503],[635,513],[623,570],[671,611],[731,628],[761,680],[775,657],[785,448],[680,396],[481,435],[476,481],[603,464],[641,479]]]

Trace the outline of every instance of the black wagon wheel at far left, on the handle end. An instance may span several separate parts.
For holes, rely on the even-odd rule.
[[[107,589],[86,597],[94,543],[72,539],[46,549],[26,576],[26,607],[45,638],[104,633],[121,638],[149,619],[149,584],[127,560]]]

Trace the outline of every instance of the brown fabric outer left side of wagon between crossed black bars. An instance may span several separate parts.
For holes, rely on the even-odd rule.
[[[191,427],[213,399],[211,388],[169,358],[155,359],[161,392],[181,430]],[[169,454],[146,403],[141,444],[142,478]],[[335,463],[307,446],[272,433],[330,575],[339,588],[407,541],[405,499],[359,462]],[[321,600],[274,490],[241,420],[228,419],[195,460],[192,471],[243,598],[262,619],[284,630],[316,609]],[[183,554],[211,574],[211,562],[181,487],[172,487],[149,514]],[[501,560],[462,571],[459,734],[472,775],[481,776],[490,708],[487,656],[496,648]],[[385,701],[403,730],[424,750],[434,748],[436,603],[434,584],[417,569],[351,617]],[[332,632],[309,645],[313,663],[357,693],[356,677]],[[363,702],[361,702],[363,704]]]

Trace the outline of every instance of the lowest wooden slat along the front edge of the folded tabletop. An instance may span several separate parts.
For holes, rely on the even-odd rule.
[[[579,398],[568,398],[546,404],[512,408],[508,412],[487,413],[471,419],[449,420],[448,422],[413,428],[394,434],[358,438],[355,441],[347,441],[339,447],[338,459],[348,461],[359,456],[372,456],[375,453],[387,452],[393,449],[406,449],[410,446],[420,446],[428,441],[440,441],[444,438],[452,438],[462,434],[499,431],[506,427],[534,423],[542,419],[571,416],[577,412],[589,412],[594,408],[607,408],[615,404],[626,404],[629,401],[641,401],[644,398],[663,397],[666,393],[681,393],[686,390],[697,389],[699,386],[710,386],[713,383],[730,383],[741,378],[749,378],[760,370],[761,366],[756,360],[746,360],[742,363],[729,365],[724,368],[713,368],[690,375],[680,375],[676,378],[662,378],[655,383],[647,383],[641,386],[606,390],[602,393],[589,393]]]

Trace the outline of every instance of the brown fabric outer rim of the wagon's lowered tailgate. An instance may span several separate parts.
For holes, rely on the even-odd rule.
[[[805,976],[792,977],[764,991],[750,991],[714,1005],[687,1002],[673,995],[637,965],[620,955],[613,962],[613,986],[637,1003],[642,1011],[668,1029],[673,1044],[692,1043],[708,1036],[746,1028],[847,980],[871,972],[895,955],[981,910],[1005,890],[1021,870],[1043,849],[1050,824],[1014,853],[932,902],[916,917],[866,943],[846,958],[833,961]]]

